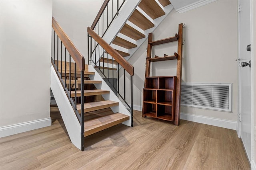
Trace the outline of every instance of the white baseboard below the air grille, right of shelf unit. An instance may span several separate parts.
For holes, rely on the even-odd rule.
[[[188,113],[180,113],[180,119],[194,121],[197,123],[203,123],[207,125],[224,127],[232,130],[236,130],[236,124],[237,124],[237,121],[229,121],[229,120],[217,119],[217,118],[206,117],[201,115],[192,115]]]

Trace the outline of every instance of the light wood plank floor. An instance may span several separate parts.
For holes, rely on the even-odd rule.
[[[72,145],[56,107],[52,126],[0,138],[0,169],[246,170],[250,165],[236,131],[181,120],[142,118],[116,125]]]

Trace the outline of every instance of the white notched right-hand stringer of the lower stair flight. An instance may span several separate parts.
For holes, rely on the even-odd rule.
[[[102,84],[94,84],[94,86],[97,89],[102,90],[109,90],[109,94],[102,94],[102,97],[105,100],[112,100],[115,102],[118,102],[118,106],[110,107],[114,113],[122,113],[124,115],[130,116],[130,119],[127,121],[124,121],[122,124],[127,126],[132,126],[132,119],[131,119],[131,113],[128,111],[128,109],[124,106],[124,104],[121,102],[121,100],[116,96],[116,94],[112,91],[112,89],[106,84],[106,82],[103,80],[103,78],[100,76],[100,74],[95,70],[95,68],[92,65],[88,65],[88,71],[95,72],[94,75],[89,75],[90,80],[100,80]]]

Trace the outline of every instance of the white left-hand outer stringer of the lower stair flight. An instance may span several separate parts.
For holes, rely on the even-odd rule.
[[[52,65],[50,86],[69,138],[73,145],[81,149],[81,125]]]

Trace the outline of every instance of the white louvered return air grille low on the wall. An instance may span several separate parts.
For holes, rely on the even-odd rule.
[[[232,112],[232,83],[182,83],[181,106]]]

